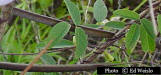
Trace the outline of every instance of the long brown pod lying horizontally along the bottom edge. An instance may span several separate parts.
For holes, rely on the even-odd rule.
[[[76,72],[76,71],[94,71],[97,67],[117,66],[127,64],[138,64],[140,62],[121,63],[121,64],[70,64],[70,65],[33,65],[28,72]],[[0,62],[0,69],[23,71],[28,64]]]

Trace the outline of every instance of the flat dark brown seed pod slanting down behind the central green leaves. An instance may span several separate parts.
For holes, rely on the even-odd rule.
[[[47,24],[47,25],[50,25],[50,26],[53,26],[58,22],[62,22],[62,20],[58,20],[56,18],[47,17],[47,16],[44,16],[44,15],[39,15],[39,14],[36,14],[36,13],[21,10],[21,9],[18,9],[18,8],[13,8],[12,14],[16,15],[16,16],[23,17],[23,18],[27,18],[27,19],[30,19],[30,20],[33,20],[33,21],[36,21],[36,22],[44,23],[44,24]],[[71,31],[74,31],[75,25],[73,25],[73,24],[71,24],[71,25],[72,25]],[[86,26],[83,26],[83,25],[79,25],[78,27],[83,28],[87,34],[94,36],[94,37],[111,38],[111,37],[114,36],[114,33],[108,32],[108,31],[105,31],[105,30],[86,27]]]

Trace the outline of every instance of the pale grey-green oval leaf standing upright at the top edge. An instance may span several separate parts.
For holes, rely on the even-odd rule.
[[[103,21],[106,16],[107,16],[107,7],[104,3],[103,0],[97,0],[94,4],[94,18],[98,21],[101,22]]]

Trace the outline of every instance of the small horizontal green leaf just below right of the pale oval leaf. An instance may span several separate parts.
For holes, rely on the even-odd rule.
[[[112,27],[114,29],[122,29],[125,26],[124,22],[110,21],[105,24],[105,26]]]

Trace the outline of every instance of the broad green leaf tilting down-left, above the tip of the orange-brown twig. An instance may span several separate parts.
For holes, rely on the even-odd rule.
[[[68,33],[70,27],[71,26],[66,22],[60,22],[56,24],[49,32],[48,37],[44,41],[40,42],[38,48],[45,47],[45,45],[47,45],[50,40],[53,40],[52,44],[50,45],[50,48],[52,46],[55,46]]]

